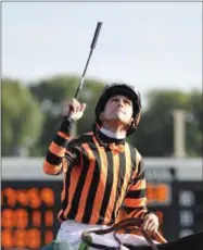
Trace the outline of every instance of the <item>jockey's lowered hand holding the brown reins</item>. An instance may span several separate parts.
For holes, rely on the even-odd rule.
[[[148,213],[144,216],[142,228],[149,233],[157,233],[158,229],[158,217],[154,213]]]

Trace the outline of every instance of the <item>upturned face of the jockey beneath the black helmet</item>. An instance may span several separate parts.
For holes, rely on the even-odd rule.
[[[132,101],[125,96],[111,97],[101,113],[101,120],[130,125],[132,121]]]

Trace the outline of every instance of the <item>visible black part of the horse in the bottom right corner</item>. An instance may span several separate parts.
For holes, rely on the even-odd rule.
[[[125,246],[130,250],[152,250],[149,246]],[[156,246],[158,250],[203,250],[203,232]]]

